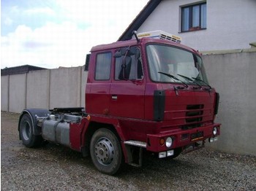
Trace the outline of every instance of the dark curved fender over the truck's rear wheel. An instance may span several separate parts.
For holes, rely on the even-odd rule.
[[[37,126],[37,117],[47,117],[51,112],[48,109],[24,109],[20,114],[20,119],[18,123],[18,131],[20,131],[20,120],[24,114],[29,114],[33,125],[33,134],[39,136],[42,134],[42,128]]]

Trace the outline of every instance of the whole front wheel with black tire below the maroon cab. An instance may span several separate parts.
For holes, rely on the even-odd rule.
[[[90,154],[95,167],[104,174],[116,174],[124,164],[121,144],[106,128],[100,128],[91,137]]]

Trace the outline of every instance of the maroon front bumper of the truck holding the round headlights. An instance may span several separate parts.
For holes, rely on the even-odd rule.
[[[214,127],[217,128],[216,135],[213,133]],[[165,152],[167,150],[175,149],[178,147],[186,147],[188,145],[194,144],[197,141],[205,141],[206,139],[216,140],[214,138],[219,136],[219,133],[219,123],[213,123],[189,130],[166,130],[157,134],[148,134],[146,149],[151,152]],[[165,141],[168,137],[173,139],[173,143],[170,147],[166,147],[165,144]]]

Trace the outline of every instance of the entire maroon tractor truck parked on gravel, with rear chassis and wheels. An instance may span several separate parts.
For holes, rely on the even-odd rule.
[[[26,147],[62,144],[112,175],[124,163],[142,165],[143,151],[172,159],[217,141],[219,93],[200,53],[161,31],[134,34],[91,48],[86,109],[23,110],[18,130]]]

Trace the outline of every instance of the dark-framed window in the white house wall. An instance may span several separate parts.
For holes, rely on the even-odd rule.
[[[206,28],[206,3],[181,7],[181,32]]]

